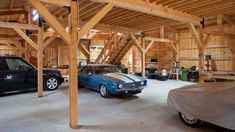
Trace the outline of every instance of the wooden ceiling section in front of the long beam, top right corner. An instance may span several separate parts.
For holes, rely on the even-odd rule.
[[[235,0],[144,0],[196,16],[234,15]]]

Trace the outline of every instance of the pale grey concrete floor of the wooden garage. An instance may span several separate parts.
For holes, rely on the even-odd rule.
[[[97,92],[79,89],[79,130],[69,127],[68,85],[46,91],[7,94],[0,97],[0,132],[221,132],[223,128],[204,124],[185,126],[177,112],[166,104],[168,91],[187,82],[149,80],[136,96],[102,98]]]

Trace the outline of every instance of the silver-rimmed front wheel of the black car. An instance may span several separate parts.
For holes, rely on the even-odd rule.
[[[56,90],[59,87],[59,80],[57,77],[48,77],[44,83],[46,90]]]

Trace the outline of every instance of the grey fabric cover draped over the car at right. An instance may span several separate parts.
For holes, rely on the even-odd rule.
[[[173,89],[167,103],[179,112],[235,130],[235,82],[193,84]]]

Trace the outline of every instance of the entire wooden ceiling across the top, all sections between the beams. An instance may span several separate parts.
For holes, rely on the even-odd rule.
[[[100,1],[100,0],[97,0]],[[117,0],[116,0],[117,1]],[[121,0],[123,1],[123,0]],[[218,14],[225,14],[234,20],[235,0],[136,0],[162,6],[166,11],[175,10],[188,15],[205,17],[206,20],[215,21]],[[89,21],[106,4],[94,2],[94,0],[79,0],[79,15],[82,22]],[[25,0],[1,0],[0,1],[0,21],[16,22],[19,16],[28,10]],[[66,18],[67,10],[64,7],[45,3],[45,6],[56,17]],[[213,18],[213,19],[212,19]],[[120,26],[137,30],[154,30],[160,26],[180,25],[182,22],[159,17],[153,14],[138,12],[115,6],[99,24]]]

